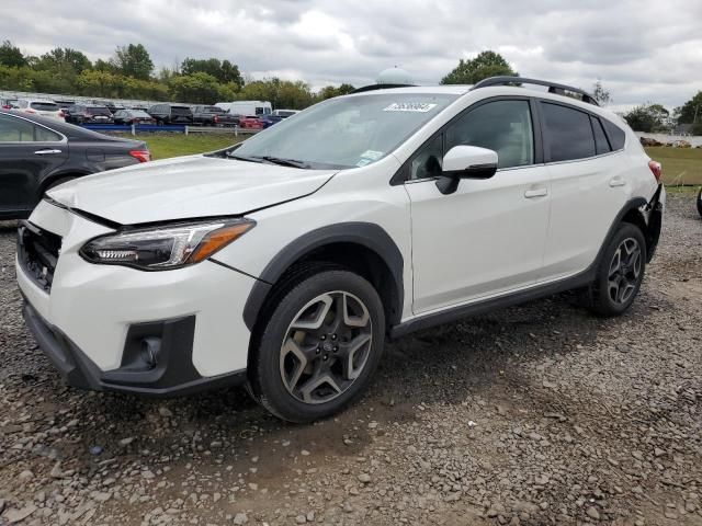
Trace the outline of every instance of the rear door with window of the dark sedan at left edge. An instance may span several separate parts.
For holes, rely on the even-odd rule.
[[[24,118],[0,115],[0,217],[34,208],[41,182],[67,159],[68,144],[61,135]]]

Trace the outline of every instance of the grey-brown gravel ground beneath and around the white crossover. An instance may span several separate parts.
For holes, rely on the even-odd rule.
[[[0,524],[700,525],[702,221],[669,196],[642,294],[559,295],[386,347],[337,419],[241,390],[169,401],[66,387],[23,327],[0,225]]]

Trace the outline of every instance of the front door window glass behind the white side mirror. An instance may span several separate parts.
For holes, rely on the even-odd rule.
[[[534,163],[529,101],[495,101],[469,110],[445,132],[445,151],[479,146],[497,151],[498,168]]]

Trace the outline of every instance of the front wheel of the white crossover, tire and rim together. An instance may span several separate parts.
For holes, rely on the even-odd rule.
[[[313,266],[271,305],[249,365],[256,401],[282,420],[307,423],[339,412],[365,390],[385,336],[383,304],[367,281]]]

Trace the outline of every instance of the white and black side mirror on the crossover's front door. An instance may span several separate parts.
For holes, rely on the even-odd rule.
[[[490,179],[497,171],[497,151],[477,146],[454,146],[445,156],[437,187],[453,194],[461,179]]]

